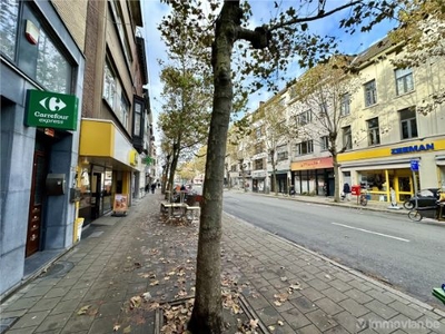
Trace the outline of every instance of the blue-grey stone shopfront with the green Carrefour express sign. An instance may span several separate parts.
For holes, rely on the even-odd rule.
[[[85,68],[50,1],[2,2],[1,18],[0,295],[72,245]]]

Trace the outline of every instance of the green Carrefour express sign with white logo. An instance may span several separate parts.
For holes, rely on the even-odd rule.
[[[24,124],[29,127],[76,130],[78,104],[73,95],[29,89]]]

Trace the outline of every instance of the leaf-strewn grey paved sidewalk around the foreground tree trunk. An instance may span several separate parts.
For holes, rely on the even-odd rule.
[[[160,198],[96,220],[1,305],[7,333],[155,333],[156,303],[194,294],[197,249],[196,224],[160,222]],[[445,333],[444,311],[234,217],[222,225],[225,288],[243,292],[270,333]]]

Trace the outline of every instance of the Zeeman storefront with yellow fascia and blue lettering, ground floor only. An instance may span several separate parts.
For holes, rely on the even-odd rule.
[[[339,155],[343,181],[360,185],[370,200],[390,202],[394,189],[397,203],[403,203],[418,189],[441,187],[444,184],[443,153],[445,139],[431,138],[394,146]],[[418,161],[418,171],[412,170],[412,161]],[[443,165],[442,165],[443,164]]]

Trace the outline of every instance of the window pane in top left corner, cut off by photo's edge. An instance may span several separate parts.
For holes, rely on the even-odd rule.
[[[0,2],[0,50],[11,60],[14,59],[17,27],[19,22],[19,1]]]

